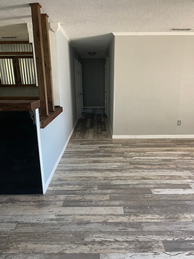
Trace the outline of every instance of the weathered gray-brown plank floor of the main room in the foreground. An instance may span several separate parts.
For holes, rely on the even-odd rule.
[[[70,139],[45,195],[0,196],[0,258],[194,258],[193,144]]]

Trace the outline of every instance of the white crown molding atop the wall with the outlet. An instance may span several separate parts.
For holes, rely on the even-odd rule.
[[[194,32],[112,32],[114,36],[145,36],[145,35],[194,35]]]

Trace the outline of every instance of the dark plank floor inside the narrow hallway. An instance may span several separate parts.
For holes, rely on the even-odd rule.
[[[112,138],[105,109],[82,109],[71,139]]]

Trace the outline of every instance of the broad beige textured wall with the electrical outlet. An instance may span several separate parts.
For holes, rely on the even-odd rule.
[[[193,46],[194,36],[115,36],[113,135],[194,134]]]

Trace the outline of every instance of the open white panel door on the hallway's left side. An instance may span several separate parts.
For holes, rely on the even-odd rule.
[[[75,59],[75,89],[77,104],[77,119],[82,118],[82,89],[81,89],[81,64]]]

